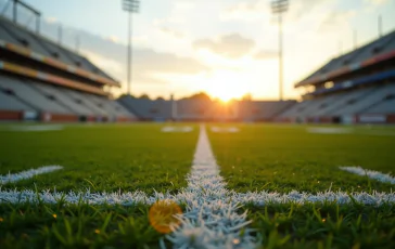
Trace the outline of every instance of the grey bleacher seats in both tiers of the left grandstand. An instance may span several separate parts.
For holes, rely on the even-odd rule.
[[[89,88],[92,88],[92,86],[94,86],[93,88],[97,88],[98,91],[92,90],[91,92],[100,93],[102,83],[106,83],[107,81],[101,81],[99,83],[92,82],[91,76],[87,76],[87,73],[103,77],[110,81],[114,80],[103,70],[89,62],[86,57],[58,44],[56,42],[53,42],[46,37],[27,30],[26,28],[1,16],[0,40],[3,41],[1,43],[0,50],[8,50],[9,47],[4,45],[4,42],[8,42],[13,45],[11,48],[14,48],[14,50],[11,50],[11,53],[20,53],[18,56],[12,57],[11,53],[9,52],[7,56],[1,57],[0,60],[5,60],[5,63],[11,62],[12,64],[8,64],[8,68],[11,68],[11,73],[3,73],[2,70],[0,70],[0,114],[1,112],[9,110],[28,110],[36,112],[38,114],[37,118],[41,118],[39,116],[40,114],[50,114],[58,115],[58,118],[60,118],[61,120],[80,120],[81,117],[86,117],[84,118],[84,120],[136,119],[135,115],[132,115],[125,107],[119,105],[116,101],[110,100],[107,96],[99,96],[89,92]],[[29,51],[35,53],[36,61],[31,62],[31,58],[23,57],[33,56],[30,55]],[[21,55],[23,56],[21,57]],[[65,64],[67,67],[61,67],[65,71],[62,75],[56,75],[60,74],[59,68],[51,70],[49,69],[49,65],[46,65],[46,67],[41,67],[41,65],[39,64],[41,62],[43,63],[42,56],[53,60],[51,62],[58,61]],[[10,62],[8,62],[8,60],[10,60]],[[76,78],[75,76],[71,76],[71,79],[74,80],[73,78],[76,78],[76,84],[80,86],[81,83],[86,83],[87,88],[71,88],[68,87],[71,86],[71,83],[68,82],[62,86],[62,79],[60,81],[60,84],[54,84],[53,82],[46,80],[48,76],[40,76],[41,73],[37,73],[35,71],[35,69],[33,69],[27,75],[20,75],[18,71],[25,69],[17,68],[17,60],[22,60],[21,66],[23,67],[29,68],[31,63],[34,63],[36,68],[51,70],[49,71],[49,74],[54,74],[54,77],[62,77],[65,80],[68,80],[66,76],[67,74],[73,74],[74,70],[72,70],[72,68],[82,69],[85,70],[85,73],[80,73],[82,75],[79,75],[78,77],[82,76],[87,78],[81,79],[78,77]],[[4,68],[3,65],[4,63],[0,62],[0,69],[5,69],[7,71],[8,69]],[[37,78],[36,76],[43,78]],[[43,80],[41,81],[41,79]],[[85,90],[81,91],[81,89],[88,90],[86,90],[87,92],[85,92]],[[75,118],[72,118],[73,116]],[[7,117],[10,117],[10,115],[7,115],[5,118]],[[16,115],[12,117],[16,117]],[[0,119],[2,119],[2,117],[0,117]]]

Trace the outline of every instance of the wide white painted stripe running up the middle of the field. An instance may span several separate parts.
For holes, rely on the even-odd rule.
[[[251,235],[251,228],[245,228],[251,223],[246,212],[237,212],[240,205],[225,188],[203,124],[187,181],[188,187],[177,198],[187,204],[187,210],[179,217],[180,226],[166,235],[174,248],[256,247],[257,238]]]

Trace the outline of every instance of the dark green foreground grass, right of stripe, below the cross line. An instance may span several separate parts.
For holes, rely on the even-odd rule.
[[[394,248],[395,209],[358,205],[246,206],[262,248]]]

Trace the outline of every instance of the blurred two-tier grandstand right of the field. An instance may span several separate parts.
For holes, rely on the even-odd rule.
[[[295,88],[303,102],[277,121],[395,123],[395,31],[331,60]]]

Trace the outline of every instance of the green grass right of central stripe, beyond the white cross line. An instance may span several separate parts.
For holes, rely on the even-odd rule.
[[[306,126],[239,124],[239,133],[209,137],[228,187],[237,192],[292,189],[390,192],[393,186],[339,169],[360,166],[394,173],[394,128],[339,127],[351,134],[308,133]],[[336,127],[332,127],[336,128]],[[380,134],[380,135],[374,135]]]

